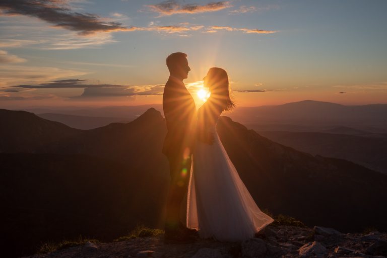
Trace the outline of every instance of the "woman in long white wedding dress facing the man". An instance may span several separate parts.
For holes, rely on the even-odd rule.
[[[255,204],[216,132],[221,113],[235,106],[230,100],[226,71],[211,68],[204,86],[209,88],[211,96],[198,110],[198,140],[192,155],[186,224],[198,230],[202,238],[242,241],[274,220]],[[211,134],[212,145],[206,143]]]

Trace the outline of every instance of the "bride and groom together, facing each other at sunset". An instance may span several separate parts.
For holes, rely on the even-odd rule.
[[[204,87],[211,93],[196,111],[183,79],[190,68],[186,54],[170,54],[170,72],[163,94],[167,122],[163,153],[170,166],[171,185],[167,199],[165,242],[190,242],[200,237],[218,241],[242,241],[273,222],[248,193],[216,132],[223,111],[235,104],[229,96],[225,70],[211,68]],[[192,171],[191,171],[192,165]],[[180,221],[180,206],[187,193],[186,223]]]

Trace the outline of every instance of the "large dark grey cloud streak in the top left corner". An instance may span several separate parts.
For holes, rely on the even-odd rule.
[[[70,0],[2,0],[0,15],[25,15],[39,18],[45,22],[81,35],[96,32],[126,31],[118,22],[108,22],[98,15],[73,12]]]

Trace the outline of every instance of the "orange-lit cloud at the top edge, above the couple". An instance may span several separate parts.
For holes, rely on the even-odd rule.
[[[156,5],[147,5],[146,7],[148,7],[150,11],[158,13],[159,16],[170,16],[174,14],[198,14],[216,12],[226,8],[230,8],[231,5],[228,1],[211,2],[205,5],[182,5],[177,1],[169,0]]]

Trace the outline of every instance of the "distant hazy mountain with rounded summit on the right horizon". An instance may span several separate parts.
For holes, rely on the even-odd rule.
[[[229,116],[245,125],[348,126],[387,132],[387,104],[345,106],[305,100],[277,106],[240,107]]]

